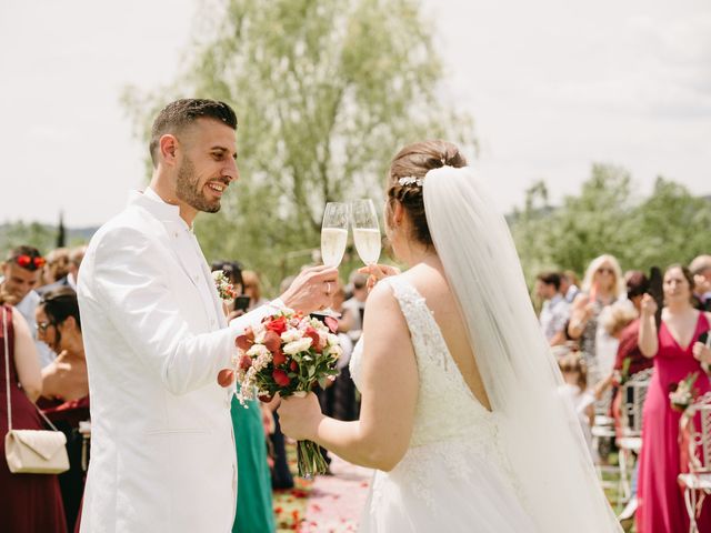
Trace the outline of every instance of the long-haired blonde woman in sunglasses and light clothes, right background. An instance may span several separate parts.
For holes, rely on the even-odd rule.
[[[573,301],[568,324],[568,334],[571,339],[579,341],[591,385],[595,385],[603,375],[607,375],[614,360],[614,354],[607,358],[598,353],[598,341],[604,334],[604,331],[598,328],[598,318],[604,308],[623,295],[624,279],[618,260],[610,254],[593,259],[585,270],[582,291]],[[605,368],[608,359],[609,368]]]

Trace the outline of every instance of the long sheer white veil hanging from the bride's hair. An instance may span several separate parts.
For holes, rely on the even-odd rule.
[[[501,445],[539,531],[622,531],[533,312],[504,218],[470,168],[423,182],[437,252],[465,319]]]

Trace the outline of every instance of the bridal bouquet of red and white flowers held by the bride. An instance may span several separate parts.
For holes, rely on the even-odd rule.
[[[237,393],[241,403],[252,400],[269,402],[279,393],[306,395],[318,382],[326,386],[338,374],[336,363],[341,346],[334,334],[338,323],[324,322],[290,309],[267,316],[256,328],[248,328],[236,339],[238,355],[233,358]],[[297,443],[299,475],[326,472],[328,465],[311,441]]]

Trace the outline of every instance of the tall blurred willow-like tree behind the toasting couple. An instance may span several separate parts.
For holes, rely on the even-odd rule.
[[[382,201],[395,150],[444,137],[473,148],[471,119],[439,99],[442,64],[412,0],[224,0],[186,73],[159,95],[129,91],[143,124],[181,94],[238,111],[241,183],[197,224],[208,257],[274,278],[317,248],[328,201]],[[280,264],[281,263],[281,264]]]

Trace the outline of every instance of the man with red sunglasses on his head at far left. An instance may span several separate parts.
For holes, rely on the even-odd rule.
[[[34,340],[40,366],[47,366],[54,359],[47,344],[37,340],[34,328],[34,310],[40,301],[36,289],[40,284],[42,268],[47,260],[32,247],[18,247],[10,250],[6,261],[1,263],[0,295],[6,303],[13,305],[30,326]]]

